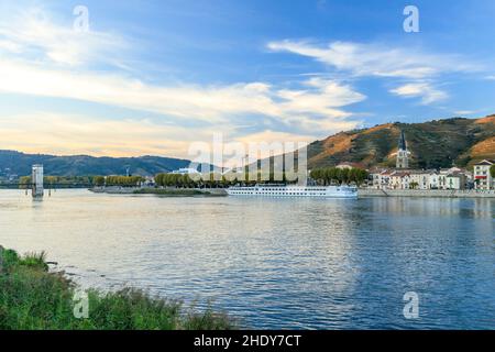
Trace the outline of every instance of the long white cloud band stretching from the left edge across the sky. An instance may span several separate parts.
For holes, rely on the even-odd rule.
[[[350,112],[343,106],[365,97],[350,86],[311,78],[301,90],[276,89],[268,84],[228,86],[151,86],[114,75],[46,69],[0,59],[0,91],[72,98],[209,122],[232,116],[261,114],[290,121],[306,114],[340,122]]]

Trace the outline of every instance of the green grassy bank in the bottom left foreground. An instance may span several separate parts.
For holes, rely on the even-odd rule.
[[[0,330],[224,330],[223,314],[185,309],[138,289],[87,290],[88,318],[74,315],[76,285],[48,273],[45,254],[18,255],[0,246]],[[76,300],[76,302],[78,302]]]

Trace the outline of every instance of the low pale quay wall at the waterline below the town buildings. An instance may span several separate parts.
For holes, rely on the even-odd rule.
[[[420,197],[420,198],[495,198],[495,191],[443,189],[372,189],[360,188],[359,197]]]

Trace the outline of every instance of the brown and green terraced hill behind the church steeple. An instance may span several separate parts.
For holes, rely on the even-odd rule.
[[[336,166],[342,162],[364,167],[395,166],[400,131],[411,152],[410,167],[469,167],[495,158],[495,116],[453,118],[424,123],[388,123],[341,132],[308,146],[308,167]]]

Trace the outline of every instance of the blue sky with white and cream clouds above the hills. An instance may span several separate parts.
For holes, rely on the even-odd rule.
[[[0,150],[188,157],[216,133],[483,117],[494,19],[493,0],[0,0]]]

